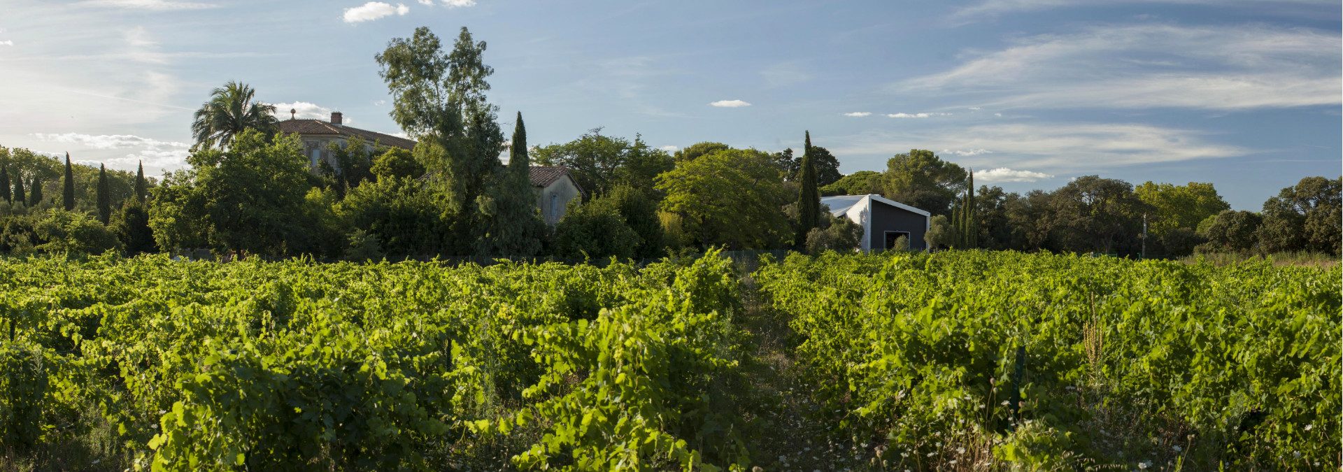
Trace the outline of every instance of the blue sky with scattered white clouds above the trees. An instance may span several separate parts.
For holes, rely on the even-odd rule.
[[[373,55],[470,28],[532,145],[602,127],[674,150],[909,149],[975,182],[1213,182],[1236,209],[1340,174],[1338,0],[3,0],[0,145],[146,173],[240,80],[282,118],[395,134]]]

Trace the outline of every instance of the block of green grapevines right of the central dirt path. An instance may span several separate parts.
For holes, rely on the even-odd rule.
[[[888,469],[1338,467],[1338,266],[951,251],[752,278],[798,335],[811,421]]]

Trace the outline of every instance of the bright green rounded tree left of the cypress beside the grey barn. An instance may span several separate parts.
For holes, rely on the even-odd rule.
[[[681,162],[658,176],[662,211],[676,215],[690,243],[772,249],[792,243],[783,206],[792,200],[770,154],[729,149]]]

